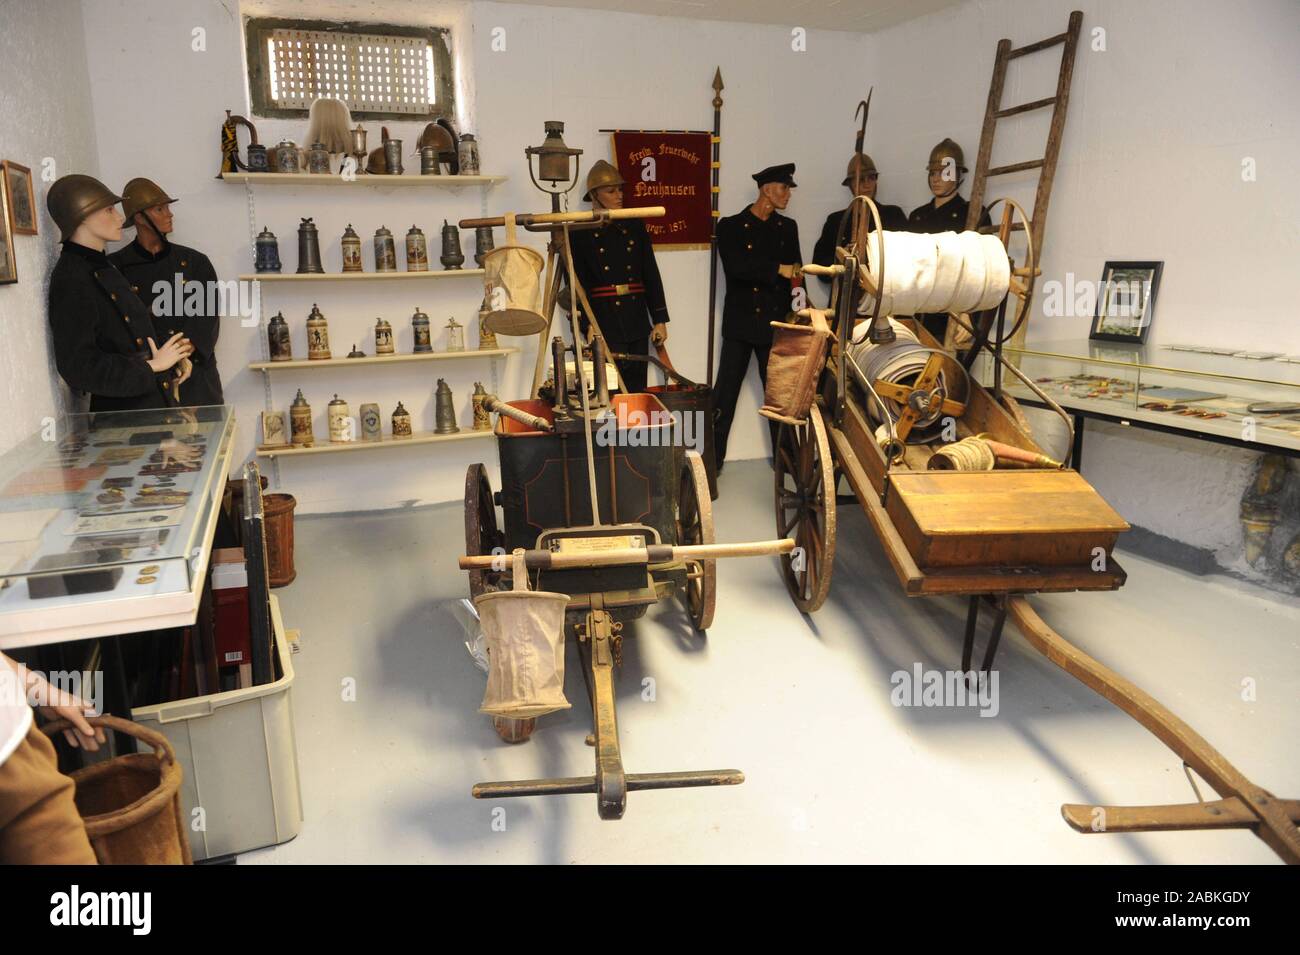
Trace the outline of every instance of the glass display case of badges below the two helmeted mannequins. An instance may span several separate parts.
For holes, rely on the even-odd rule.
[[[70,414],[0,457],[0,638],[47,620],[100,635],[143,618],[140,598],[192,595],[233,435],[220,405]],[[104,602],[122,605],[90,612]]]

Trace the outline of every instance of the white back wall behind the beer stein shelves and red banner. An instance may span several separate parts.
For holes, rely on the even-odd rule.
[[[807,52],[796,53],[785,27],[679,21],[572,9],[538,9],[494,3],[313,3],[254,0],[239,14],[309,16],[381,19],[450,26],[458,40],[456,58],[460,127],[478,135],[482,168],[511,181],[495,188],[486,204],[477,191],[367,190],[356,194],[325,188],[255,192],[256,222],[248,221],[242,188],[213,181],[217,169],[217,127],[224,109],[248,113],[239,14],[233,3],[217,0],[96,0],[83,4],[86,30],[118,42],[87,44],[95,77],[95,126],[105,143],[101,169],[109,183],[133,175],[156,178],[181,200],[177,242],[202,248],[222,277],[251,270],[251,233],[269,226],[281,242],[286,269],[296,268],[296,226],[313,216],[321,230],[325,268],[341,266],[338,236],[351,222],[363,239],[387,225],[400,243],[412,222],[429,238],[430,257],[438,253],[443,218],[484,212],[549,209],[549,200],[528,181],[524,147],[542,139],[543,120],[563,120],[571,146],[586,149],[584,174],[598,157],[608,156],[601,127],[708,129],[714,68],[722,66],[724,92],[724,160],[722,208],[738,210],[753,199],[750,173],[779,161],[796,161],[806,183],[792,204],[811,253],[815,230],[842,190],[836,172],[840,152],[824,142],[838,136],[845,117],[861,96],[854,79],[862,36],[811,32]],[[130,34],[122,25],[130,23]],[[191,31],[205,30],[207,49],[191,49]],[[503,29],[506,49],[491,49],[493,30]],[[147,55],[144,55],[147,51]],[[841,84],[837,90],[836,86]],[[133,92],[134,91],[134,92]],[[125,95],[124,95],[125,92]],[[792,117],[800,117],[797,135]],[[256,120],[260,139],[282,136],[302,142],[306,122]],[[387,123],[394,136],[413,146],[422,123]],[[378,139],[378,123],[367,123]],[[819,185],[822,183],[822,185]],[[580,191],[571,196],[573,208]],[[344,199],[348,196],[350,199]],[[364,203],[360,204],[360,203]],[[498,236],[499,239],[499,236]],[[528,242],[542,248],[538,236]],[[472,255],[473,236],[463,235]],[[368,244],[368,243],[367,243]],[[369,252],[367,252],[367,256]],[[369,261],[369,260],[367,260]],[[706,300],[708,259],[703,252],[660,255],[673,316],[671,351],[684,373],[706,374]],[[373,352],[370,330],[378,314],[393,322],[399,342],[410,335],[410,316],[421,307],[434,327],[455,316],[474,320],[481,294],[467,281],[420,286],[368,285],[328,292],[266,287],[264,307],[283,308],[294,329],[294,347],[303,351],[303,322],[318,300],[330,322],[335,352],[352,342]],[[315,296],[315,299],[313,299]],[[719,299],[720,300],[720,299]],[[264,408],[263,381],[247,364],[261,357],[260,330],[226,320],[218,363],[226,399],[240,421],[239,455],[248,455],[257,438],[257,413]],[[471,346],[473,333],[471,333]],[[500,382],[503,394],[525,394],[532,379],[534,351],[511,360]],[[410,347],[407,344],[407,347]],[[326,381],[322,373],[281,373],[273,378],[273,400],[287,408],[294,390],[303,387],[316,411],[317,431],[325,427],[325,404],[337,391],[352,407],[378,401],[387,413],[400,399],[416,417],[416,427],[433,426],[437,376],[451,385],[460,420],[469,420],[469,394],[476,379],[490,387],[486,363],[443,363],[437,369],[356,369]],[[737,413],[732,453],[766,455],[766,431],[759,427],[762,403],[757,373]],[[281,464],[282,487],[299,499],[303,512],[393,507],[404,503],[451,500],[462,496],[469,463],[495,463],[490,440],[391,452],[311,456]]]

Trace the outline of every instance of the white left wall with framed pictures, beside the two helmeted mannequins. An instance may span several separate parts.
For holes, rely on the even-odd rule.
[[[53,179],[42,173],[98,169],[82,48],[77,0],[0,0],[0,159],[31,169],[40,209],[40,234],[14,236],[18,282],[0,286],[0,453],[35,434],[44,417],[72,408],[49,347],[47,290],[60,246],[46,212]]]

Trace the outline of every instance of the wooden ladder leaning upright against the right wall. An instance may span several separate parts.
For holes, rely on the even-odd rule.
[[[1028,169],[1037,169],[1039,187],[1034,196],[1034,212],[1030,214],[1030,242],[1034,243],[1034,261],[1043,261],[1043,234],[1048,223],[1048,203],[1052,199],[1052,182],[1056,178],[1057,157],[1061,155],[1061,133],[1065,130],[1066,108],[1070,105],[1070,79],[1074,75],[1074,53],[1079,42],[1079,30],[1083,26],[1083,13],[1074,10],[1070,14],[1070,25],[1063,34],[1049,36],[1037,43],[1024,47],[1011,48],[1011,42],[1001,39],[997,42],[997,56],[993,60],[993,81],[988,87],[988,105],[984,109],[984,129],[979,138],[979,156],[975,160],[975,178],[971,182],[970,210],[966,213],[966,229],[974,231],[979,227],[979,217],[984,209],[984,191],[988,179],[994,175],[1009,175]],[[1052,47],[1061,45],[1061,73],[1057,77],[1056,96],[1048,96],[1032,103],[1022,103],[1018,107],[1002,108],[1002,84],[1006,81],[1006,65],[1020,56],[1037,53]],[[1048,130],[1046,151],[1040,160],[1027,160],[1024,162],[1011,162],[1005,166],[989,168],[993,156],[993,134],[997,121],[1034,109],[1052,107],[1052,127]],[[993,225],[993,231],[997,225]],[[1023,231],[1019,222],[1011,226],[1013,231]],[[1022,327],[1017,335],[1018,342],[1024,339]],[[1018,343],[1017,342],[1017,343]]]

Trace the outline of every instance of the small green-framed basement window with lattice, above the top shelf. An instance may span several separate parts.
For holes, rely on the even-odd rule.
[[[451,34],[442,27],[248,18],[254,116],[306,117],[341,99],[356,120],[451,117]]]

